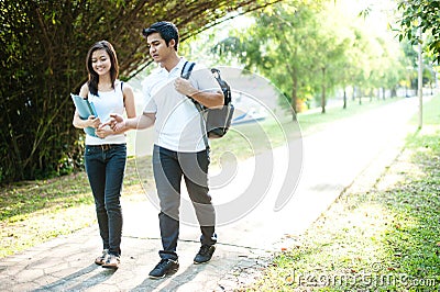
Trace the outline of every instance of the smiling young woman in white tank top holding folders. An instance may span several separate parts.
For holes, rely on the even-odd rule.
[[[77,128],[94,127],[96,135],[86,134],[85,165],[95,198],[102,255],[95,262],[105,268],[118,268],[121,256],[122,209],[120,203],[127,162],[123,131],[105,125],[111,113],[135,116],[134,94],[128,83],[118,79],[119,65],[113,46],[107,41],[94,44],[86,59],[89,80],[79,96],[88,99],[97,116],[81,120],[75,111],[73,124]]]

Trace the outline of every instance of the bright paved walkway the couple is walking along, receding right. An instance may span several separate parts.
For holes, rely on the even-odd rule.
[[[231,291],[242,287],[353,182],[375,182],[400,151],[408,131],[414,131],[405,124],[416,111],[417,100],[406,99],[305,137],[301,179],[292,200],[278,212],[274,203],[279,184],[288,178],[279,172],[285,169],[283,149],[274,150],[278,172],[266,195],[244,217],[218,228],[217,251],[207,265],[193,265],[199,233],[183,225],[180,269],[162,280],[148,279],[161,247],[157,210],[147,200],[123,201],[123,255],[118,270],[92,263],[100,254],[94,226],[0,260],[0,291]],[[238,171],[246,173],[251,167],[244,161]],[[222,192],[237,190],[238,183],[232,181]]]

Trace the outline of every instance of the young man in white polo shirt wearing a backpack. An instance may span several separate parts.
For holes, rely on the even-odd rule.
[[[153,171],[160,199],[158,214],[163,249],[161,261],[150,272],[154,279],[177,271],[180,181],[185,184],[201,229],[201,247],[194,262],[211,259],[216,250],[216,212],[208,188],[209,148],[202,135],[200,114],[194,101],[207,108],[221,106],[223,93],[208,69],[197,68],[189,80],[180,77],[185,58],[177,54],[178,30],[170,22],[157,22],[143,30],[150,55],[160,65],[143,82],[146,106],[142,115],[123,120],[113,116],[113,130],[155,125]]]

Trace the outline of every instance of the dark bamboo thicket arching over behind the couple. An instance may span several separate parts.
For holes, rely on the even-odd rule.
[[[63,175],[81,165],[84,135],[72,126],[69,92],[86,81],[92,43],[111,42],[121,79],[148,63],[142,27],[169,20],[182,41],[270,1],[0,1],[0,182]]]

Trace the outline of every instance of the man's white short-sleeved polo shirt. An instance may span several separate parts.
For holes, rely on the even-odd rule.
[[[165,68],[155,69],[143,81],[145,97],[144,113],[155,113],[154,143],[174,151],[195,153],[206,148],[200,124],[200,114],[191,99],[174,88],[174,80],[180,76],[186,59],[169,72]],[[196,64],[189,78],[200,91],[221,91],[219,83],[207,68]]]

